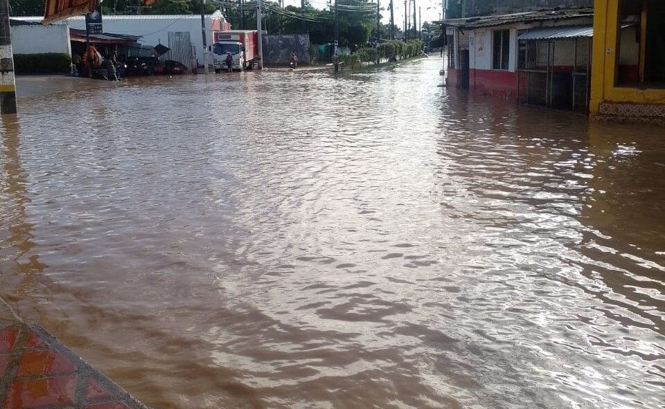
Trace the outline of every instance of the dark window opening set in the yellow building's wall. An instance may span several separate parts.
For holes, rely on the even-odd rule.
[[[665,2],[620,0],[617,85],[665,87]]]

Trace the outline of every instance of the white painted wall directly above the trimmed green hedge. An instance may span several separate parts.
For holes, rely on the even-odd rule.
[[[71,55],[67,24],[25,24],[11,26],[15,54],[62,53]]]

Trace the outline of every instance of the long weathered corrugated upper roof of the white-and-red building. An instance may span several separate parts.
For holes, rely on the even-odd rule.
[[[447,19],[438,21],[443,26],[457,28],[481,28],[502,26],[504,24],[533,23],[536,21],[549,21],[560,19],[574,19],[578,17],[594,16],[593,8],[565,8],[554,10],[538,10],[528,12],[517,12],[509,15],[493,15],[481,17],[466,17],[463,19]]]

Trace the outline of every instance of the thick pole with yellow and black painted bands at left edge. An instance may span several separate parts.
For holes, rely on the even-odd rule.
[[[9,1],[0,0],[0,114],[16,113],[16,80],[12,35],[9,28]]]

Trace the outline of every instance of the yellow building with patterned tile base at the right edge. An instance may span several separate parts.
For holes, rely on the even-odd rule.
[[[665,125],[665,1],[596,0],[589,113]]]

